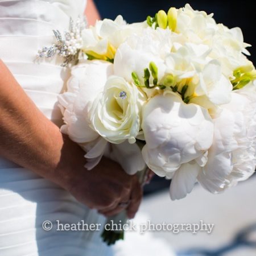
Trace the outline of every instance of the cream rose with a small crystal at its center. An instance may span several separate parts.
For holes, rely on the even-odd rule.
[[[143,94],[137,86],[122,77],[110,77],[90,109],[93,129],[111,143],[122,143],[126,139],[134,143],[141,127],[142,103]]]

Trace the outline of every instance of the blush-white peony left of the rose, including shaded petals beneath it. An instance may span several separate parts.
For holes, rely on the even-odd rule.
[[[67,92],[59,96],[65,122],[61,131],[86,151],[85,167],[88,170],[94,168],[102,155],[105,155],[121,164],[127,174],[135,174],[144,168],[141,150],[137,144],[129,144],[127,141],[110,144],[90,127],[88,109],[112,74],[113,64],[101,60],[85,61],[72,68]]]

